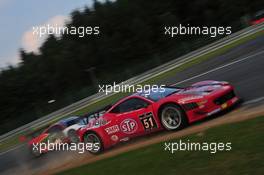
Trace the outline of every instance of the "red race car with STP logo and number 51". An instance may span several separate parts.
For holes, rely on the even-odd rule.
[[[227,82],[202,81],[186,88],[165,87],[130,95],[91,120],[77,133],[99,153],[119,142],[152,132],[179,130],[239,101]]]

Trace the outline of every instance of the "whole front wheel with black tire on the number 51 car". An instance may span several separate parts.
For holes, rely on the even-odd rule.
[[[185,112],[176,104],[163,106],[159,117],[160,122],[166,130],[180,130],[188,124]]]

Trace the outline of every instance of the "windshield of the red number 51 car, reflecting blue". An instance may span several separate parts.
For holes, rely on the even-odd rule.
[[[174,93],[177,93],[181,90],[181,88],[176,87],[165,87],[165,88],[158,88],[154,90],[148,90],[141,93],[137,93],[142,97],[148,98],[152,101],[159,101],[160,99],[170,96]]]

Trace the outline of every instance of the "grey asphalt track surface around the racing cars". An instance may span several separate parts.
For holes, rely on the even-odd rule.
[[[245,103],[264,98],[264,36],[240,45],[231,51],[195,65],[160,84],[188,86],[202,80],[232,83]],[[257,105],[257,103],[255,104]],[[79,155],[76,152],[52,152],[39,158],[30,155],[27,146],[0,154],[0,174],[37,174]]]

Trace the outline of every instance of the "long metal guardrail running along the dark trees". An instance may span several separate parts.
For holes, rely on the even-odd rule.
[[[192,61],[194,60],[196,57],[199,57],[199,56],[202,56],[202,55],[205,55],[205,54],[208,54],[212,51],[215,51],[221,47],[224,47],[228,44],[231,44],[241,38],[244,38],[244,37],[247,37],[249,35],[252,35],[256,32],[259,32],[261,30],[264,30],[264,24],[259,24],[259,25],[256,25],[256,26],[250,26],[250,27],[247,27],[245,29],[242,29],[234,34],[231,34],[229,36],[226,36],[218,41],[215,41],[209,45],[206,45],[200,49],[197,49],[195,51],[192,51],[186,55],[183,55],[181,57],[178,57],[172,61],[169,61],[165,64],[162,64],[156,68],[153,68],[149,71],[146,71],[140,75],[137,75],[133,78],[130,78],[126,81],[123,82],[123,84],[130,84],[130,85],[133,85],[133,84],[137,84],[137,83],[140,83],[140,82],[143,82],[143,81],[146,81],[150,78],[153,78],[157,75],[160,75],[164,72],[167,72],[167,71],[170,71],[172,69],[175,69],[179,66],[181,66],[182,64],[186,63],[186,62],[189,62],[189,61]],[[15,134],[20,134],[22,132],[25,132],[25,131],[29,131],[30,129],[34,128],[34,127],[40,127],[40,126],[44,126],[45,124],[47,124],[48,122],[52,121],[55,117],[57,116],[66,116],[66,115],[69,115],[75,111],[78,111],[79,109],[81,108],[84,108],[85,106],[87,105],[90,105],[92,103],[96,103],[98,102],[99,100],[103,100],[104,98],[107,98],[107,97],[110,97],[112,95],[114,95],[115,93],[111,93],[111,94],[108,94],[108,95],[105,95],[105,93],[97,93],[97,94],[94,94],[92,96],[89,96],[87,98],[84,98],[78,102],[75,102],[65,108],[62,108],[60,110],[57,110],[51,114],[48,114],[42,118],[39,118],[35,121],[32,121],[26,125],[23,125],[15,130],[12,130],[8,133],[5,133],[3,135],[0,136],[0,142],[14,136]]]

